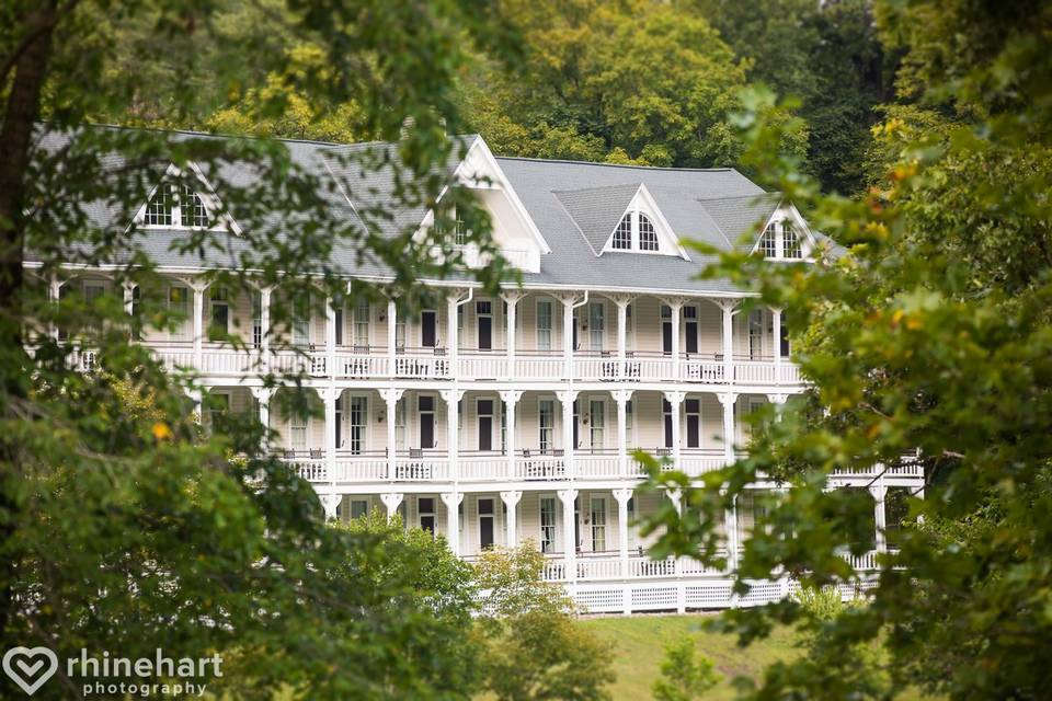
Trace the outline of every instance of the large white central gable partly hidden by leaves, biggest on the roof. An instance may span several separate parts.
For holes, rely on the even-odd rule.
[[[493,242],[507,262],[526,273],[539,273],[540,256],[551,253],[551,246],[481,137],[472,141],[467,156],[454,171],[454,179],[461,187],[470,189],[479,205],[485,208],[492,222]],[[444,194],[439,195],[439,202]],[[469,232],[462,228],[464,222],[456,212],[451,215],[456,221],[454,241],[464,248],[464,260],[470,267],[484,266],[488,261],[483,260],[474,244],[467,241]],[[428,211],[418,235],[425,235],[434,221],[434,212]]]

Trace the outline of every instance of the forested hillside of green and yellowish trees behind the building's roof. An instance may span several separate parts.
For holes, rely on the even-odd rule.
[[[192,34],[160,39],[148,18],[130,28],[121,22],[119,31],[100,18],[94,41],[123,47],[111,73],[127,81],[136,106],[98,118],[339,141],[375,136],[357,105],[306,99],[311,81],[325,79],[324,55],[309,35],[278,31],[278,3],[227,4]],[[895,60],[881,47],[868,0],[819,4],[505,0],[496,21],[521,38],[521,60],[508,69],[466,36],[474,60],[455,99],[500,154],[720,166],[739,164],[731,117],[742,89],[762,83],[793,97],[791,112],[803,119],[784,149],[826,189],[855,194],[877,107],[893,97]],[[230,60],[231,45],[243,47],[243,60]],[[172,71],[159,49],[185,56],[185,69]],[[191,85],[198,104],[165,104],[173,83]]]

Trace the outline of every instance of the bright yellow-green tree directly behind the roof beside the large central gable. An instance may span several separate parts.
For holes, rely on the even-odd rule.
[[[465,113],[514,156],[729,165],[728,124],[747,62],[681,3],[505,3],[522,34],[521,71],[466,76]],[[803,148],[805,142],[792,143]]]

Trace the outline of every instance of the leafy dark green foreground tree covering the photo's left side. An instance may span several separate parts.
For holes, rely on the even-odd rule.
[[[202,229],[173,241],[173,252],[196,261],[236,240],[237,269],[217,271],[209,281],[281,284],[290,296],[309,289],[323,300],[346,292],[328,262],[334,249],[352,246],[395,278],[386,290],[356,286],[354,294],[401,292],[407,309],[419,303],[418,276],[445,267],[426,250],[448,242],[412,245],[412,227],[392,223],[391,212],[433,206],[453,184],[447,163],[462,143],[446,128],[461,124],[450,95],[467,60],[462,36],[495,57],[511,45],[495,41],[502,23],[491,22],[492,12],[473,2],[369,0],[248,10],[55,0],[0,10],[5,641],[60,656],[80,648],[132,658],[158,647],[186,657],[218,653],[231,674],[207,680],[209,691],[231,698],[271,698],[279,686],[312,699],[469,692],[471,674],[456,645],[462,616],[436,610],[421,596],[421,574],[391,562],[390,551],[405,549],[387,532],[328,527],[313,491],[261,450],[265,429],[254,417],[229,416],[225,429],[204,430],[187,401],[199,393],[195,380],[164,372],[129,342],[148,325],[174,327],[182,319],[153,294],[156,265],[142,230],[128,225],[170,165],[178,169],[169,174],[173,186],[196,186],[199,169],[220,194],[218,214],[240,225],[236,238]],[[245,14],[265,20],[251,25],[259,33],[225,41],[231,20]],[[290,69],[275,36],[298,37],[309,49],[305,60]],[[279,46],[261,50],[267,42]],[[84,124],[198,126],[242,94],[256,101],[254,114],[304,130],[343,118],[330,106],[353,105],[356,133],[395,146],[353,158],[334,152],[330,165],[382,170],[390,193],[352,221],[286,142]],[[318,113],[282,118],[287,95]],[[413,127],[400,139],[407,122]],[[492,250],[471,198],[454,187],[448,199],[445,207],[457,206],[471,219],[472,238]],[[447,214],[439,208],[439,217]],[[27,260],[35,266],[28,274]],[[80,265],[111,268],[111,292],[49,299],[52,278]],[[490,288],[503,277],[499,262],[480,275]],[[126,283],[144,292],[134,315],[124,310]],[[287,303],[272,309],[273,329],[290,319]],[[81,347],[105,371],[76,371],[69,356]],[[295,387],[296,379],[263,381]],[[207,398],[202,403],[207,407]],[[77,693],[65,674],[37,694]]]

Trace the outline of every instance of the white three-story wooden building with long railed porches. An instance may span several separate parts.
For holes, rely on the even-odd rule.
[[[339,148],[289,142],[305,162]],[[469,559],[529,540],[548,556],[546,576],[592,611],[784,596],[785,581],[733,598],[725,572],[647,558],[637,521],[675,497],[637,492],[643,475],[631,452],[642,448],[700,475],[745,449],[750,412],[805,386],[787,314],[743,311],[747,294],[696,279],[706,257],[681,241],[747,245],[773,265],[809,265],[821,238],[790,204],[731,169],[494,158],[470,137],[455,173],[477,188],[521,286],[488,297],[469,281],[427,280],[444,301],[412,318],[400,317],[396,300],[327,300],[322,313],[304,306],[290,333],[267,334],[281,288],[209,287],[199,276],[206,264],[176,265],[159,246],[163,294],[187,321],[141,342],[167,366],[196,370],[211,395],[225,398],[222,411],[259,412],[276,432],[273,449],[313,484],[333,518],[398,512]],[[194,197],[194,216],[207,222],[208,195]],[[425,231],[432,215],[419,214]],[[158,237],[195,223],[156,193],[139,216]],[[382,271],[350,277],[386,279]],[[56,295],[92,296],[111,284],[104,271],[79,269],[53,286]],[[126,295],[133,303],[135,291]],[[213,325],[242,330],[250,350],[210,343]],[[90,365],[91,352],[81,360]],[[261,366],[306,370],[317,416],[278,411]],[[845,470],[835,481],[873,493],[880,529],[887,489],[917,489],[923,475],[906,464],[873,478]],[[752,524],[748,498],[720,524],[731,566]],[[874,542],[883,548],[882,535]],[[873,567],[872,554],[854,560]]]

